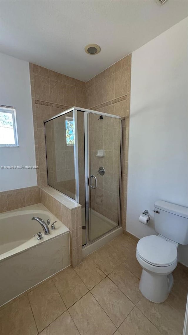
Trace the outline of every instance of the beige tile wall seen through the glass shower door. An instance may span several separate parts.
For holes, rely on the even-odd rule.
[[[103,109],[100,109],[102,112]],[[97,176],[97,188],[91,189],[91,207],[118,224],[121,120],[90,115],[91,175]],[[104,149],[104,157],[97,150]],[[100,166],[105,174],[97,175]]]

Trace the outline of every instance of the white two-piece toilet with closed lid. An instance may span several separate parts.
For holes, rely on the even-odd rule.
[[[158,200],[154,205],[155,230],[139,240],[136,258],[142,266],[139,289],[154,303],[163,303],[173,286],[178,244],[188,244],[188,208]]]

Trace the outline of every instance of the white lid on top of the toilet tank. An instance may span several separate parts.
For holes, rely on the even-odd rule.
[[[157,200],[154,204],[155,208],[166,212],[188,218],[188,207],[172,204],[171,202]]]

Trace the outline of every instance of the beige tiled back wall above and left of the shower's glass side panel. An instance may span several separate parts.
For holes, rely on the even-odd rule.
[[[29,64],[37,183],[47,185],[43,121],[72,106],[86,108],[86,83],[35,64]]]

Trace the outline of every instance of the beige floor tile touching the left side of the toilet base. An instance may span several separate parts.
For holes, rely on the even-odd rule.
[[[123,293],[132,301],[137,304],[142,294],[139,291],[139,279],[136,278],[122,263],[117,266],[113,272],[109,274],[109,278],[116,284]]]

